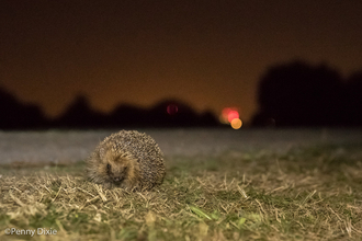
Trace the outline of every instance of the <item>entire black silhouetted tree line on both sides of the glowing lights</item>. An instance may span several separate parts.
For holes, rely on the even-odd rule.
[[[362,126],[362,70],[342,78],[327,65],[302,60],[271,66],[260,78],[258,104],[251,126]],[[0,129],[222,126],[212,112],[199,114],[176,100],[150,108],[120,104],[111,113],[101,113],[86,95],[50,119],[39,106],[20,102],[1,87],[0,113]]]

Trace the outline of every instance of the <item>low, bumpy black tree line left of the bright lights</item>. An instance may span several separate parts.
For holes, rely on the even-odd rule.
[[[212,112],[206,111],[199,114],[188,104],[177,100],[165,100],[150,108],[120,104],[111,113],[102,113],[91,107],[86,95],[78,95],[60,116],[48,118],[39,106],[22,103],[1,88],[0,113],[0,129],[211,127],[220,125]]]

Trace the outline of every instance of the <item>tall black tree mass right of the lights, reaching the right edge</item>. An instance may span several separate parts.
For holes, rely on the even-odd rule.
[[[272,66],[260,79],[258,104],[253,126],[361,126],[362,70],[342,78],[301,60]]]

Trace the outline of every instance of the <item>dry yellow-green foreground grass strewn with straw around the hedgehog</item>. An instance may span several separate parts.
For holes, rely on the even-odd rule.
[[[361,240],[359,146],[167,162],[163,184],[144,193],[89,183],[81,163],[2,167],[0,240]]]

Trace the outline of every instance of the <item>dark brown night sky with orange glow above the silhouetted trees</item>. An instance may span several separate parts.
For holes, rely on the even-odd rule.
[[[1,0],[0,85],[55,116],[93,107],[257,110],[267,68],[296,58],[362,68],[361,0]]]

